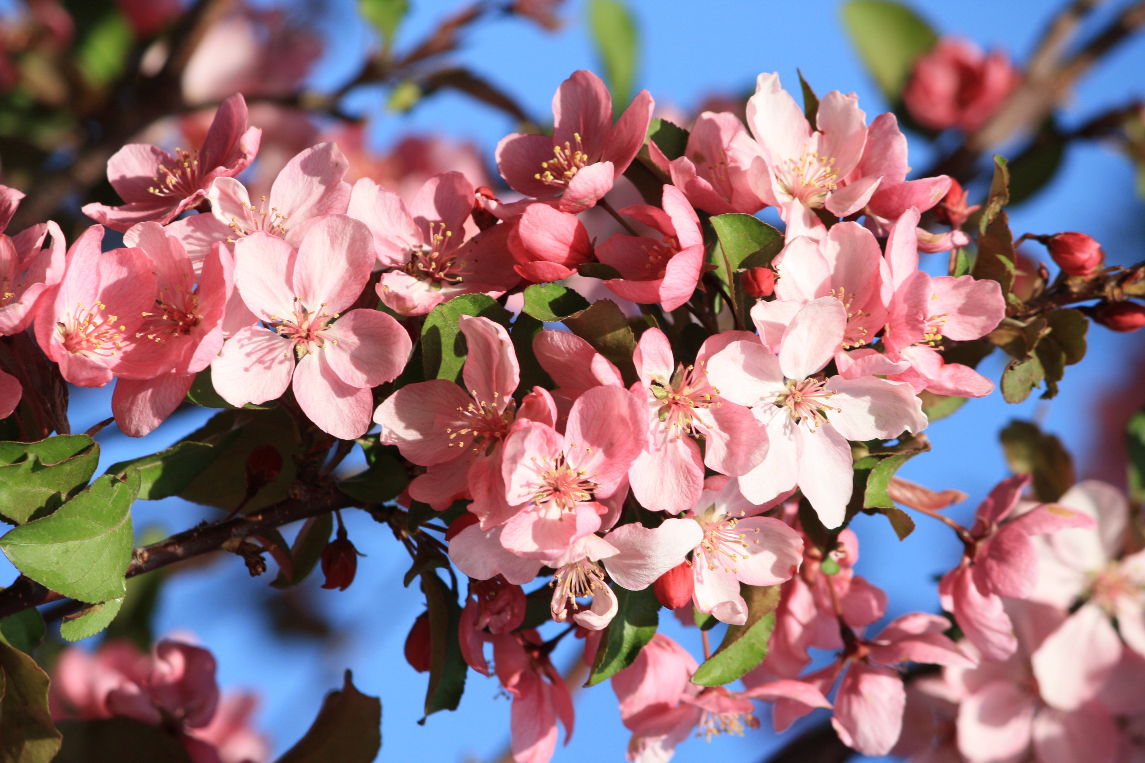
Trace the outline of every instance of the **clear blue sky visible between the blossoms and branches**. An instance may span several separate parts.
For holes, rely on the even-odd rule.
[[[442,1],[412,0],[411,5],[411,15],[400,32],[400,47],[419,39],[453,8],[453,3]],[[647,87],[658,101],[689,108],[708,94],[751,87],[761,71],[779,71],[790,88],[797,82],[798,66],[820,94],[830,89],[858,93],[868,118],[886,108],[844,37],[836,2],[638,0],[631,5],[641,33],[638,86]],[[915,3],[941,32],[1001,47],[1018,59],[1027,54],[1048,21],[1049,9],[1056,5],[1039,0]],[[334,45],[313,75],[313,85],[319,88],[334,87],[352,75],[370,46],[370,35],[355,18],[352,2],[339,0],[326,6],[323,31]],[[1100,18],[1111,13],[1104,9]],[[483,24],[456,59],[514,94],[530,112],[544,116],[562,79],[576,69],[595,67],[581,3],[570,2],[566,15],[569,23],[556,34],[518,19]],[[1145,89],[1143,71],[1145,39],[1137,39],[1080,82],[1064,112],[1066,124],[1140,97]],[[379,149],[410,132],[435,132],[473,140],[491,164],[497,140],[513,129],[499,112],[458,95],[434,96],[401,117],[386,113],[384,103],[384,94],[378,92],[361,94],[352,103],[377,117],[372,137]],[[926,148],[921,140],[911,141],[915,167],[927,164]],[[1140,200],[1132,196],[1130,165],[1111,146],[1087,144],[1069,152],[1053,183],[1016,208],[1011,221],[1017,233],[1089,232],[1103,243],[1112,263],[1128,264],[1142,259],[1142,212]],[[1032,253],[1042,254],[1040,249]],[[932,256],[933,268],[941,270],[945,256]],[[997,430],[1012,418],[1036,419],[1061,436],[1084,474],[1087,453],[1093,450],[1098,436],[1096,405],[1118,384],[1126,383],[1111,369],[1128,367],[1127,357],[1140,357],[1143,345],[1140,333],[1118,335],[1093,327],[1089,356],[1081,365],[1068,368],[1058,398],[1041,402],[1035,394],[1024,404],[1006,405],[995,394],[972,400],[955,416],[927,429],[934,450],[909,462],[901,474],[935,488],[965,491],[970,500],[951,514],[969,517],[990,486],[1006,474]],[[1001,369],[1001,353],[980,368],[995,380]],[[72,398],[73,429],[82,431],[109,415],[110,397],[110,388],[78,391]],[[109,428],[100,437],[104,464],[158,451],[208,415],[206,411],[187,412],[144,440],[129,440]],[[158,525],[175,531],[207,515],[182,501],[166,500],[140,502],[134,516],[139,530]],[[362,512],[347,512],[346,519],[350,538],[368,555],[360,559],[354,586],[345,593],[324,591],[317,588],[321,581],[311,579],[302,590],[329,619],[338,634],[334,638],[317,642],[271,635],[264,606],[276,594],[267,588],[269,579],[250,579],[242,562],[232,556],[171,579],[157,615],[158,633],[196,634],[218,657],[224,688],[256,688],[263,698],[259,724],[278,752],[301,734],[323,693],[338,685],[341,671],[350,667],[362,691],[381,697],[384,746],[378,760],[496,760],[508,739],[510,702],[495,679],[471,671],[457,713],[437,714],[425,726],[416,724],[426,677],[405,663],[402,644],[413,618],[423,610],[421,594],[416,587],[401,586],[409,558],[384,526]],[[889,615],[935,611],[934,577],[951,566],[961,553],[953,533],[924,518],[901,543],[882,517],[860,517],[854,528],[861,539],[859,571],[887,590]],[[15,574],[6,562],[3,566],[8,572],[0,571],[0,579]],[[695,629],[685,630],[666,612],[663,614],[664,630],[698,654]],[[574,649],[572,644],[562,644],[555,654],[558,663],[567,665]],[[578,692],[576,701],[576,733],[567,748],[558,749],[554,761],[590,756],[623,760],[627,732],[619,723],[610,689],[601,685]],[[764,726],[768,725],[765,717]],[[758,761],[783,739],[761,729],[744,738],[719,738],[710,746],[689,740],[678,748],[676,760],[688,763],[721,755],[726,760]]]

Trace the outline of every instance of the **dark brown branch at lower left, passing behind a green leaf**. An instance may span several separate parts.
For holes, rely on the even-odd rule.
[[[244,540],[298,519],[356,506],[361,506],[358,501],[327,487],[307,500],[287,498],[240,517],[200,524],[158,543],[136,548],[127,566],[127,577],[134,578],[184,559],[222,550],[222,546],[228,541]],[[29,607],[63,598],[66,597],[21,575],[11,586],[0,590],[0,620]]]

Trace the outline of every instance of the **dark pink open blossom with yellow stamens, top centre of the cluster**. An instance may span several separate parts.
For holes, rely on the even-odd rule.
[[[599,77],[572,73],[553,96],[553,136],[513,133],[497,144],[497,169],[526,196],[560,196],[562,212],[597,204],[635,158],[655,103],[640,90],[613,125],[613,100]]]

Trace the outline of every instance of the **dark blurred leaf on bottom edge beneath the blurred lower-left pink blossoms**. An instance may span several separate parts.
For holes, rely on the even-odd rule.
[[[135,718],[62,721],[53,763],[191,763],[187,748],[159,726]]]

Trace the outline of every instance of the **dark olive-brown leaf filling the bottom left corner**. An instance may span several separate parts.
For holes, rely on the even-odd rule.
[[[61,734],[48,710],[48,674],[31,657],[0,642],[0,761],[48,763]]]

